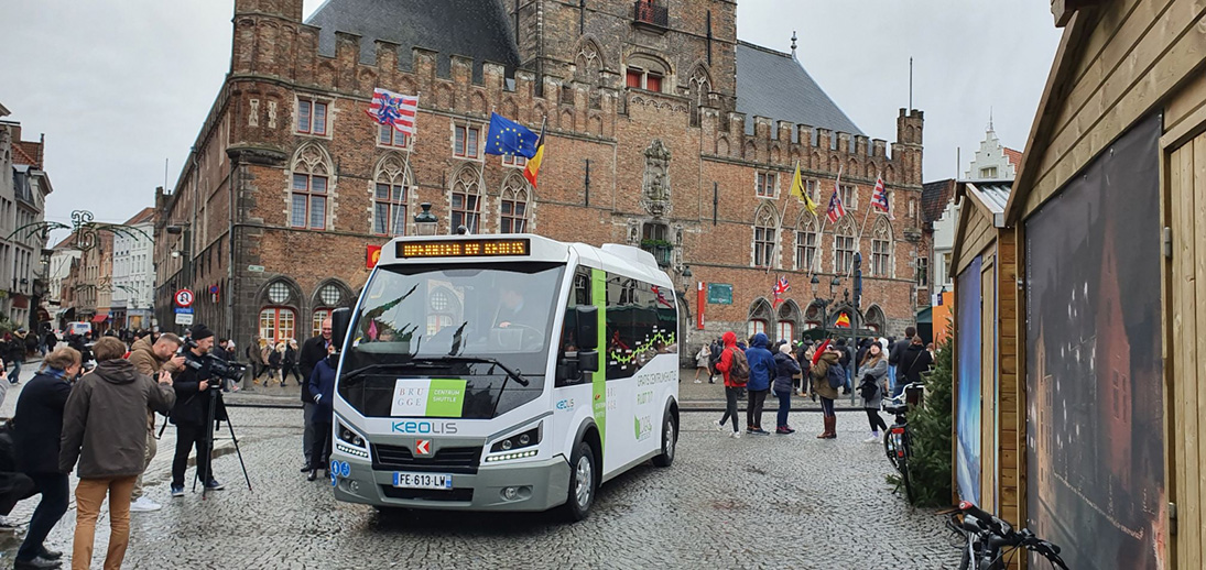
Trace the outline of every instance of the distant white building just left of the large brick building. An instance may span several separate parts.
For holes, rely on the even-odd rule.
[[[154,208],[146,207],[125,222],[128,231],[113,235],[113,328],[150,329],[154,300]]]

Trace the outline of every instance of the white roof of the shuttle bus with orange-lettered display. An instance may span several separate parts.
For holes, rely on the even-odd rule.
[[[586,265],[674,288],[649,252],[619,243],[603,247],[567,243],[535,234],[441,235],[396,237],[381,248],[379,265],[440,262],[562,262],[576,254]]]

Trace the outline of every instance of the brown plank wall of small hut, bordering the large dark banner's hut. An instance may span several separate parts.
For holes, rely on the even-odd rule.
[[[997,382],[1000,401],[997,402],[997,457],[1000,464],[1000,503],[1001,518],[1017,528],[1025,527],[1018,501],[1018,481],[1025,477],[1019,454],[1025,453],[1019,447],[1025,431],[1025,396],[1019,384],[1018,375],[1018,247],[1013,229],[1003,228],[996,233],[997,262]]]

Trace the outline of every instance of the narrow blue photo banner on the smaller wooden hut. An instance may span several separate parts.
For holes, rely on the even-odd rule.
[[[955,480],[959,496],[980,504],[980,269],[978,255],[959,274],[955,318],[959,321],[956,340],[959,345],[959,400],[955,404],[956,456]]]

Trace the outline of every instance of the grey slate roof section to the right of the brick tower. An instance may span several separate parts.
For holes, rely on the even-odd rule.
[[[862,134],[791,54],[744,41],[737,42],[737,111],[745,113],[747,133],[754,133],[754,116],[757,114]],[[795,141],[795,129],[791,135]]]

